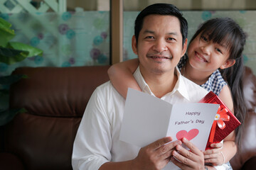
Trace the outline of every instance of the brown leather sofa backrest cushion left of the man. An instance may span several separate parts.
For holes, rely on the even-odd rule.
[[[22,67],[13,74],[26,74],[11,86],[11,108],[26,108],[43,116],[80,116],[95,87],[108,81],[109,66]]]

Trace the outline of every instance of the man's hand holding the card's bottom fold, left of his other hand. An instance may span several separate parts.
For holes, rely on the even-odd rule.
[[[134,169],[163,169],[171,159],[171,152],[177,145],[181,145],[181,141],[171,141],[171,137],[164,137],[142,147],[134,159]]]

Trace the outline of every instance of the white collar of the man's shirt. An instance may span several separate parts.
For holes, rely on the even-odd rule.
[[[166,96],[169,96],[174,93],[181,94],[184,98],[189,100],[188,91],[186,88],[186,84],[184,82],[185,77],[181,75],[181,72],[179,72],[178,67],[175,68],[175,74],[178,77],[178,80],[176,82],[176,85],[174,86],[173,91],[169,92],[168,94],[164,95],[162,98],[166,98]],[[136,79],[137,83],[139,84],[139,87],[142,89],[144,93],[150,94],[152,96],[155,96],[151,89],[149,88],[149,85],[146,84],[146,81],[142,77],[142,73],[139,70],[139,67],[134,72],[134,78]]]

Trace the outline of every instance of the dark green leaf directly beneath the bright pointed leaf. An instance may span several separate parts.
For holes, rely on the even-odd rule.
[[[26,57],[28,57],[27,51],[0,47],[0,62],[14,64],[16,62],[21,62],[22,60],[26,59]]]

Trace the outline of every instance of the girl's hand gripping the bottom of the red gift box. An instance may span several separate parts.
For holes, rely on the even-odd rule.
[[[203,152],[205,162],[210,163],[213,166],[224,164],[224,155],[221,152],[221,147],[223,147],[223,143],[213,143],[210,145],[210,147],[213,147],[213,149],[208,149]]]

